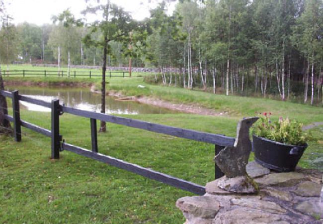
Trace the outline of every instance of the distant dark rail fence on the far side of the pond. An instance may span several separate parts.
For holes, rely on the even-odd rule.
[[[1,74],[3,76],[22,76],[22,77],[82,77],[82,78],[94,78],[102,77],[102,71],[58,71],[58,70],[2,70]],[[120,71],[106,71],[106,77],[130,77],[129,72],[120,72]]]

